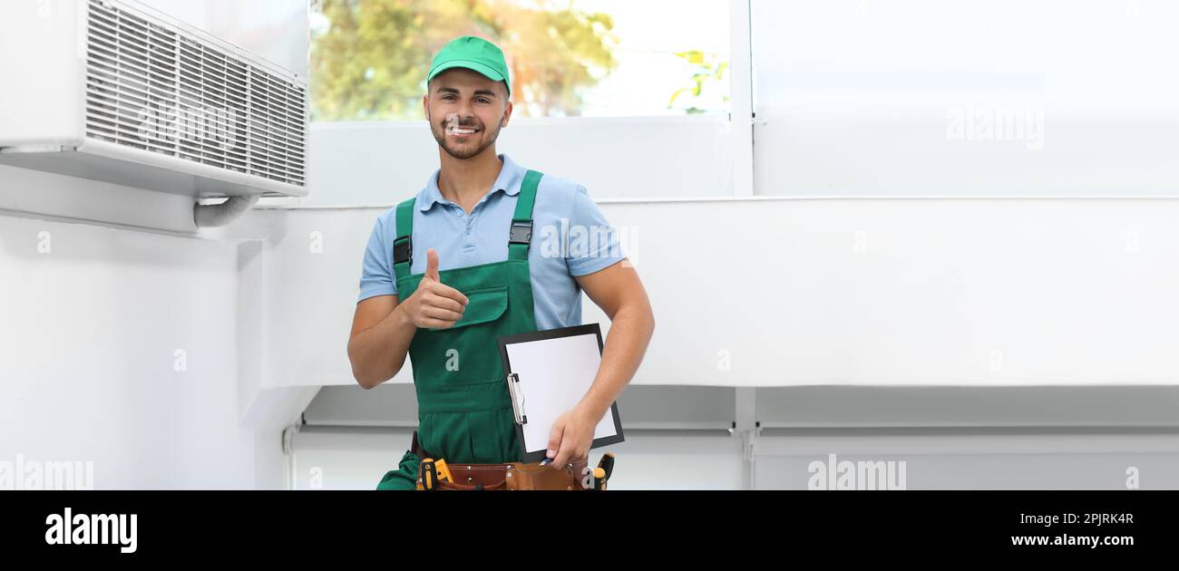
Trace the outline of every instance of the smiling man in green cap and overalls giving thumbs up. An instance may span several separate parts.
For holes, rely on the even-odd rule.
[[[584,290],[611,328],[590,391],[553,424],[547,457],[565,466],[588,458],[594,426],[638,370],[654,317],[586,190],[496,154],[511,92],[503,53],[486,40],[457,38],[435,55],[422,107],[441,168],[376,221],[348,357],[371,389],[409,356],[416,447],[452,463],[519,462],[496,337],[579,325]],[[607,239],[568,239],[575,233]],[[413,490],[419,460],[406,452],[377,489]]]

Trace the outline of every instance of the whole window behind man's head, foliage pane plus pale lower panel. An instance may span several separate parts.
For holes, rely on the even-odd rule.
[[[496,152],[598,200],[752,192],[749,0],[316,0],[311,13],[312,192],[298,204],[388,205],[422,187],[440,152],[426,74],[460,35],[494,41],[512,69]]]

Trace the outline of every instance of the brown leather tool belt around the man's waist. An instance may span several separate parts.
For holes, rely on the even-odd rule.
[[[565,467],[509,462],[505,464],[450,464],[430,454],[417,443],[410,450],[420,460],[419,490],[593,490],[588,462],[574,462]],[[439,462],[442,460],[442,462]],[[444,467],[443,467],[444,466]],[[443,473],[448,472],[448,477]]]

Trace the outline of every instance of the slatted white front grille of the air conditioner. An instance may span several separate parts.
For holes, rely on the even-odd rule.
[[[305,185],[304,85],[110,0],[87,32],[87,137]]]

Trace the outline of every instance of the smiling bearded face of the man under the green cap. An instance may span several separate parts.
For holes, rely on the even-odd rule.
[[[455,67],[437,74],[422,99],[434,139],[456,159],[469,159],[495,144],[512,117],[507,87],[477,72]]]

